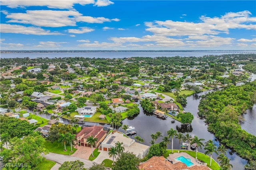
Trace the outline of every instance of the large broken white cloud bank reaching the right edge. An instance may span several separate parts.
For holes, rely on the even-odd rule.
[[[218,35],[219,33],[228,34],[229,29],[256,29],[256,25],[253,24],[256,17],[250,17],[250,15],[252,14],[249,11],[230,12],[220,18],[201,16],[201,22],[198,23],[166,20],[145,22],[145,25],[149,27],[146,31],[150,31],[155,35]]]

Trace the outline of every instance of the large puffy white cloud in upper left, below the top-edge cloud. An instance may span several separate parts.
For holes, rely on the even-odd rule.
[[[76,22],[104,23],[120,21],[118,18],[82,16],[78,11],[27,10],[26,13],[8,13],[1,11],[10,19],[6,22],[32,24],[41,27],[76,26]]]

